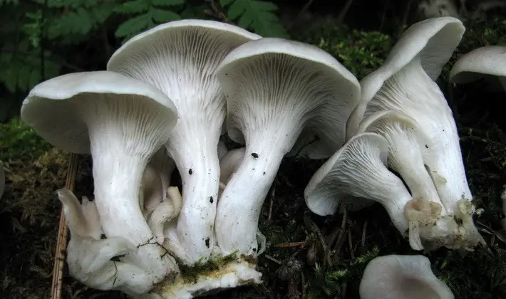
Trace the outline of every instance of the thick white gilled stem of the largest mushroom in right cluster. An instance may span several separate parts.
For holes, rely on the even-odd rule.
[[[368,103],[366,115],[381,110],[406,113],[423,129],[428,137],[424,161],[448,214],[458,212],[459,199],[473,199],[452,112],[438,85],[423,70],[419,57],[383,83]]]

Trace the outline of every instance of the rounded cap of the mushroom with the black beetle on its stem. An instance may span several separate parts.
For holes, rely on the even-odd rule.
[[[278,100],[279,105],[289,107],[302,106],[301,102],[305,102],[307,107],[301,110],[313,114],[307,120],[297,143],[308,140],[308,135],[319,135],[319,141],[314,142],[312,149],[308,150],[310,157],[314,156],[311,153],[329,157],[344,143],[346,120],[358,104],[360,84],[329,53],[316,46],[282,38],[250,41],[230,52],[218,67],[218,78],[227,97],[229,136],[239,143],[245,140],[244,132],[239,129],[242,116],[237,107],[242,105],[240,102],[244,99],[235,97],[234,93],[238,88],[247,88],[237,84],[238,80],[244,80],[242,73],[247,73],[249,79],[256,81],[252,82],[257,84],[255,88],[267,89],[249,93],[256,96],[255,100]],[[242,83],[249,84],[247,81]],[[297,97],[299,95],[294,94],[295,89],[288,86],[306,95]],[[274,96],[267,99],[267,94]]]

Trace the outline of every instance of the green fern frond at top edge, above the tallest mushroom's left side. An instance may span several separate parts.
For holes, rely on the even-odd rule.
[[[186,0],[133,0],[115,9],[120,14],[131,14],[132,19],[120,24],[115,36],[128,39],[141,31],[167,21],[181,19],[180,14],[172,11],[173,6],[183,6]]]

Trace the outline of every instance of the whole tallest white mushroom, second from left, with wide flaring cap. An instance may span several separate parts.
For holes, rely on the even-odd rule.
[[[116,51],[108,70],[155,85],[174,100],[180,119],[165,144],[182,179],[182,209],[165,236],[188,265],[210,258],[220,186],[218,141],[225,100],[217,65],[237,46],[260,36],[227,23],[182,20],[156,26]]]

